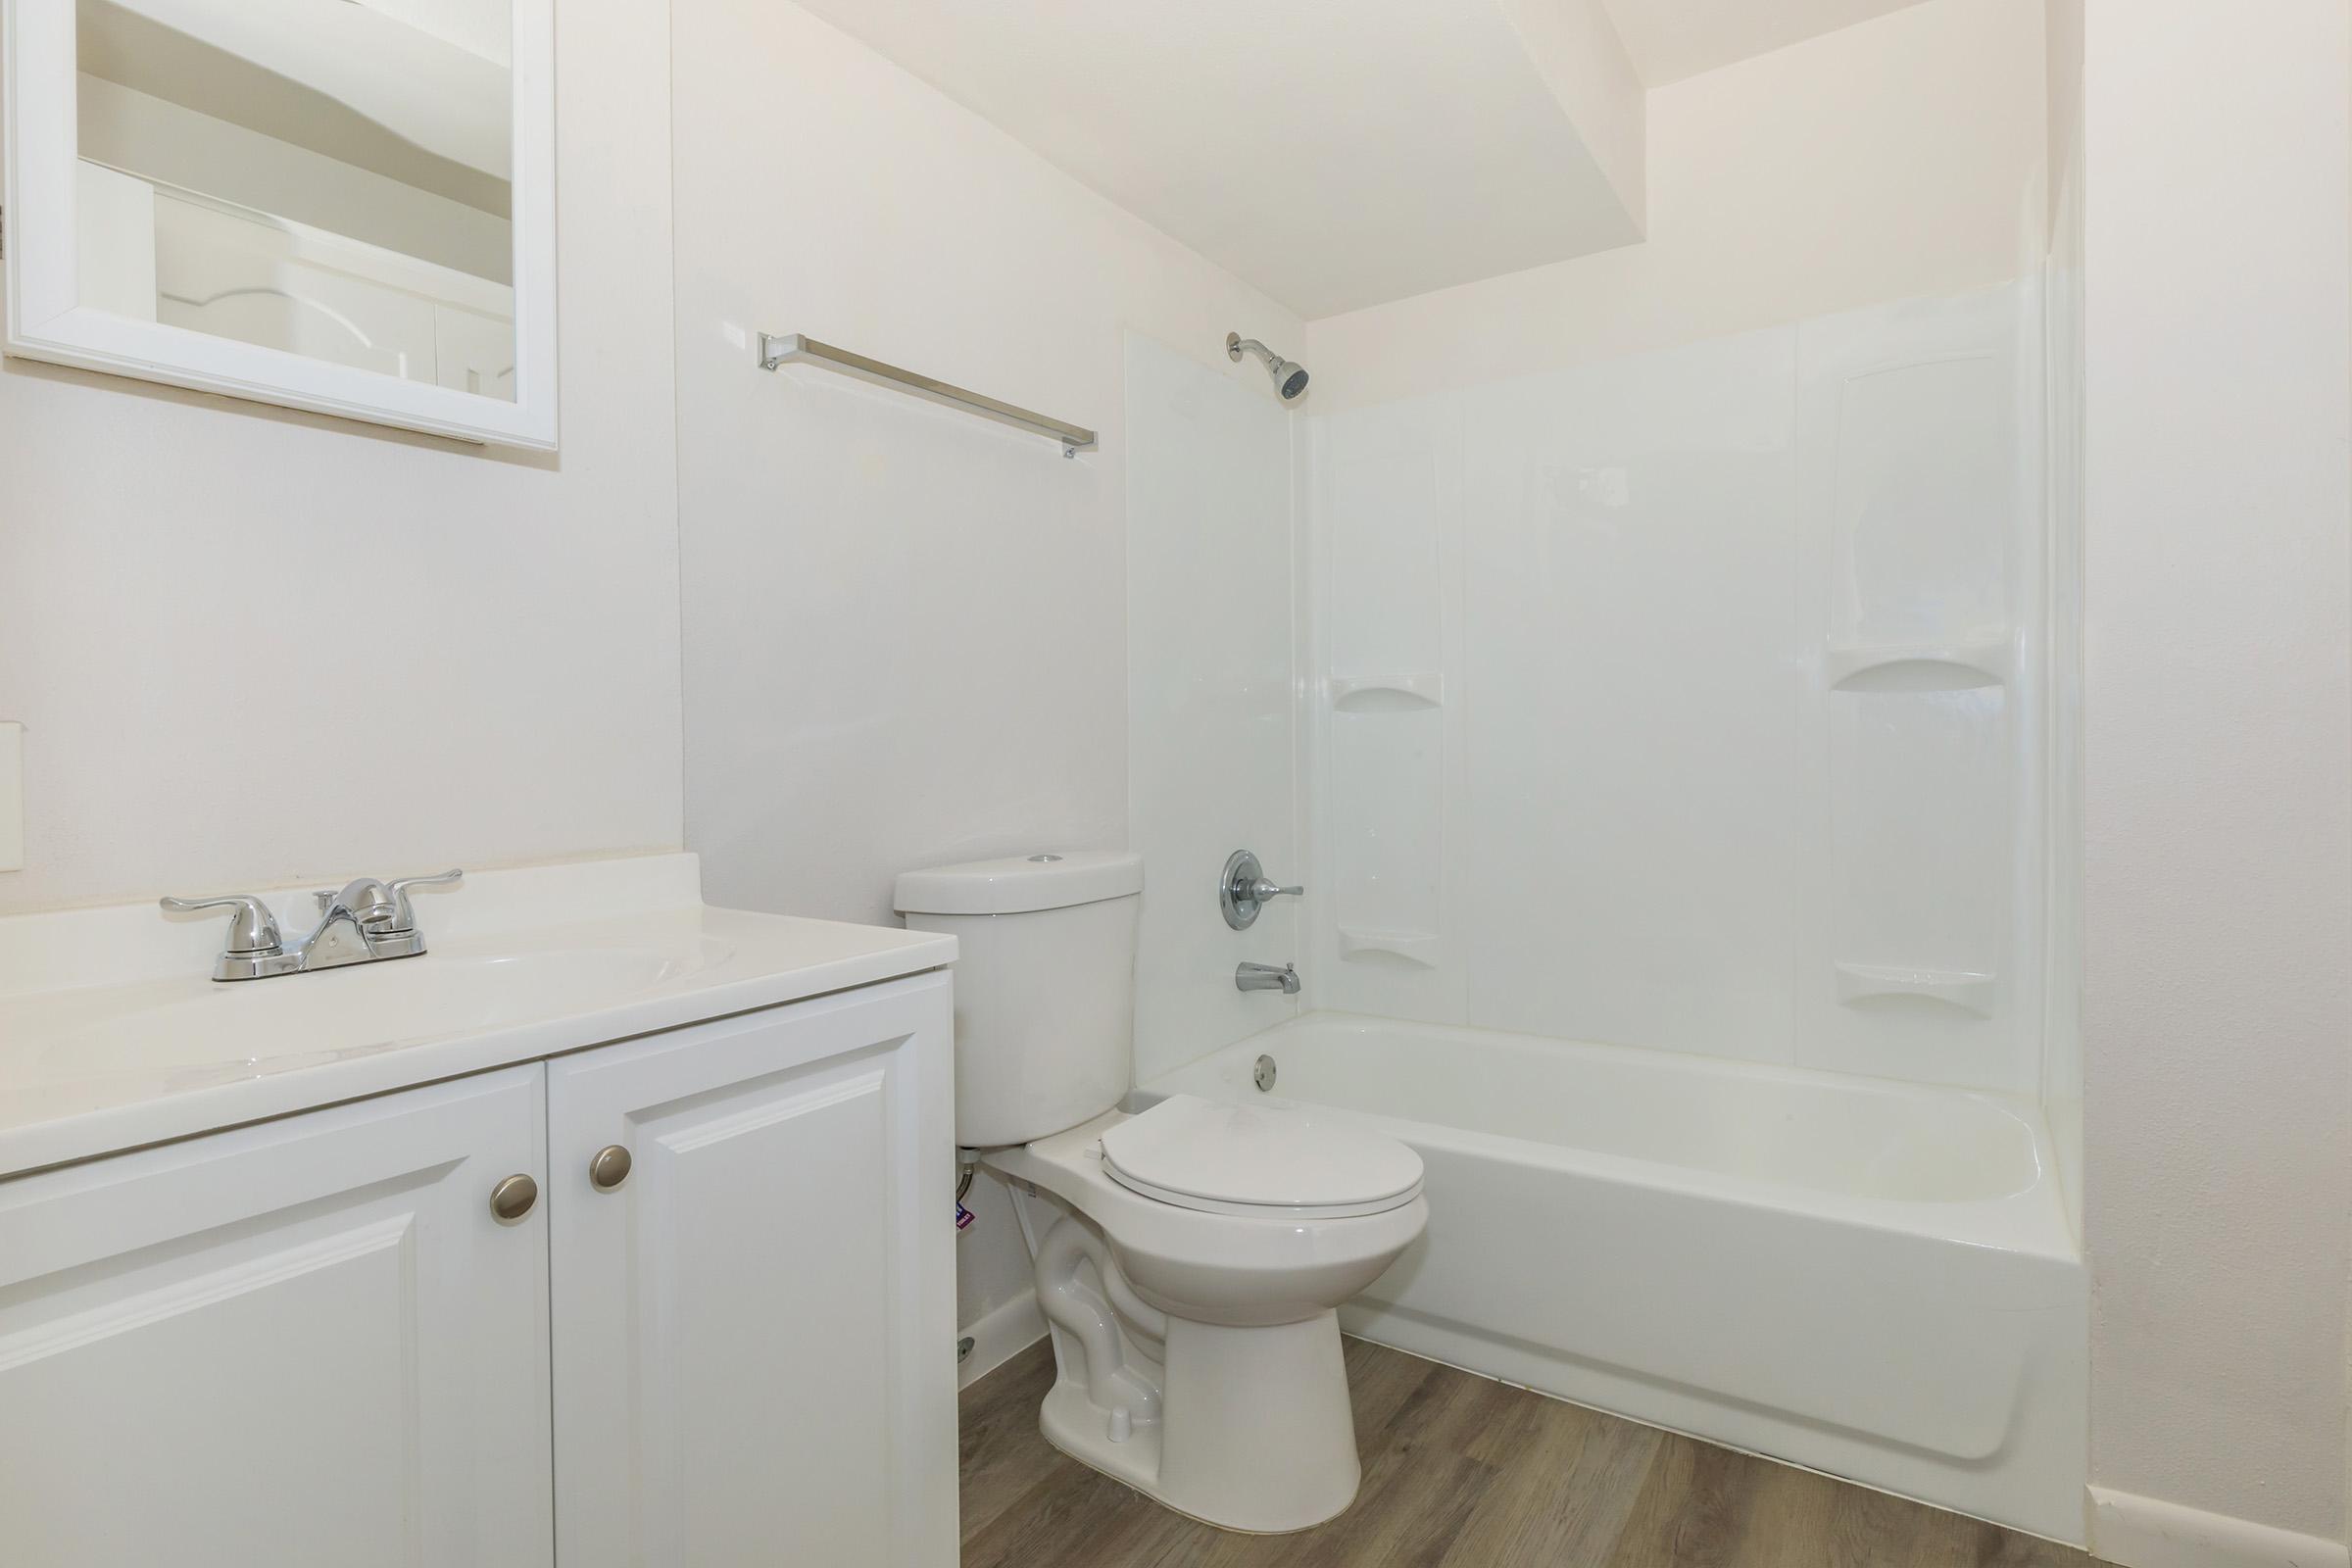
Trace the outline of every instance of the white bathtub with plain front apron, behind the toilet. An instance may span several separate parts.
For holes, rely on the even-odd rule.
[[[1350,1333],[2084,1537],[2086,1286],[2030,1103],[1308,1013],[1145,1084],[1362,1114],[1430,1229]]]

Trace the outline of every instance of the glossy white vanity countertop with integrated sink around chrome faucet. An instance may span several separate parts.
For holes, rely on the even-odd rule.
[[[263,896],[308,929],[306,889]],[[416,924],[416,959],[223,985],[221,919],[0,919],[0,1178],[955,961],[950,936],[713,910],[694,856],[485,872]]]

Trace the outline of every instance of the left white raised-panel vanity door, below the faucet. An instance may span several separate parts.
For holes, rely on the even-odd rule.
[[[0,1182],[0,1561],[553,1559],[541,1070]]]

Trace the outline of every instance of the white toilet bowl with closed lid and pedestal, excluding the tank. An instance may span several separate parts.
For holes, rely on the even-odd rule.
[[[1150,1159],[1122,1164],[1122,1143]],[[1232,1161],[1237,1145],[1298,1152],[1284,1180]],[[985,1164],[1033,1237],[1056,1359],[1047,1441],[1228,1530],[1303,1530],[1355,1500],[1336,1307],[1428,1225],[1411,1150],[1305,1110],[1178,1095]]]

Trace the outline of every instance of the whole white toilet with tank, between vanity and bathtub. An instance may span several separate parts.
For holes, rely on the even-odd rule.
[[[1117,1110],[1141,893],[1141,856],[1089,851],[908,872],[896,903],[960,940],[955,1138],[1030,1237],[1047,1439],[1214,1526],[1303,1530],[1355,1500],[1334,1309],[1428,1222],[1421,1157],[1303,1107]]]

